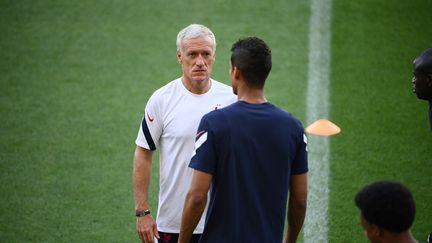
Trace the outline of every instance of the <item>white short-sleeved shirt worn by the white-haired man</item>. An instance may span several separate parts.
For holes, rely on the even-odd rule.
[[[237,101],[232,88],[211,80],[204,94],[193,94],[181,78],[156,90],[147,102],[135,143],[145,149],[160,149],[158,230],[179,233],[184,200],[192,180],[189,162],[201,117]],[[207,209],[206,209],[207,210]],[[194,233],[204,229],[203,213]]]

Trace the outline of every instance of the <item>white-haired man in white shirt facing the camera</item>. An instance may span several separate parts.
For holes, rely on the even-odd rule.
[[[133,189],[136,230],[142,242],[177,242],[183,202],[192,178],[188,164],[201,117],[236,101],[232,88],[210,78],[216,40],[210,29],[192,24],[177,35],[182,76],[156,90],[147,102],[136,139]],[[150,213],[149,184],[153,151],[159,147],[159,207]],[[154,195],[153,195],[154,196]],[[198,242],[204,218],[191,242]]]

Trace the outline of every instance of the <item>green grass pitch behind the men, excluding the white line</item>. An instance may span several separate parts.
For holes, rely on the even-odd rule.
[[[332,4],[329,241],[367,242],[353,197],[378,179],[412,189],[425,240],[432,131],[410,80],[432,47],[432,2]],[[138,242],[134,140],[151,93],[181,74],[175,37],[190,23],[215,32],[227,84],[231,44],[266,40],[267,98],[305,122],[309,15],[299,0],[0,0],[0,242]]]

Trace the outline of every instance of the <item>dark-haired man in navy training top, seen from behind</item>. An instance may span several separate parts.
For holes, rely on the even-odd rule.
[[[290,113],[268,102],[271,50],[261,39],[237,41],[229,76],[238,101],[206,114],[189,164],[194,169],[179,242],[188,242],[207,203],[200,242],[295,242],[307,200],[307,139]],[[286,205],[289,191],[288,214]]]

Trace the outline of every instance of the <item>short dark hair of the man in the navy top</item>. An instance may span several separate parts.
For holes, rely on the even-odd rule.
[[[242,71],[248,85],[262,88],[272,68],[271,49],[258,37],[239,39],[231,48],[231,64]]]

